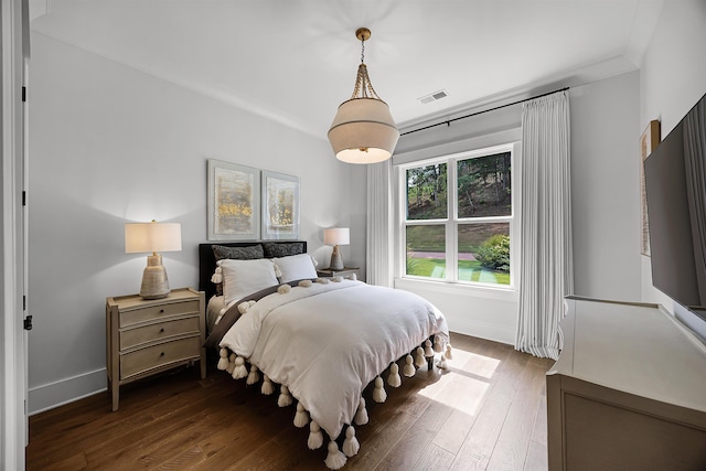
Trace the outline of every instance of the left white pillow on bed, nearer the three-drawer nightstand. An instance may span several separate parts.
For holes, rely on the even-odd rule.
[[[269,288],[278,283],[275,266],[266,258],[256,260],[218,260],[223,270],[223,296],[225,303]]]

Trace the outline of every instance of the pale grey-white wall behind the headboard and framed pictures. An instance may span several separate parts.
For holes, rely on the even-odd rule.
[[[30,411],[106,387],[106,297],[139,291],[146,256],[124,224],[182,224],[165,253],[172,288],[197,283],[206,240],[206,160],[301,179],[301,239],[325,261],[322,228],[352,228],[346,263],[365,272],[365,171],[321,140],[171,83],[32,36],[30,78]]]

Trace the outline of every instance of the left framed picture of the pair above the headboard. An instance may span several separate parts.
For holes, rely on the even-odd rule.
[[[260,236],[260,171],[208,160],[208,240],[257,240]]]

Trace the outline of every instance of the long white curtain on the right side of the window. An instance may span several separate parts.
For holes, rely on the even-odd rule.
[[[515,349],[556,360],[564,297],[574,292],[567,92],[523,105],[521,206]]]

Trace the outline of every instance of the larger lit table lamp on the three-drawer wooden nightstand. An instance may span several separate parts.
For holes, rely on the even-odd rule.
[[[181,224],[179,223],[128,223],[125,225],[125,253],[149,253],[142,272],[140,296],[143,299],[160,299],[169,295],[167,270],[158,251],[181,250]]]

